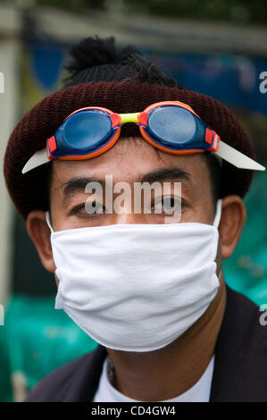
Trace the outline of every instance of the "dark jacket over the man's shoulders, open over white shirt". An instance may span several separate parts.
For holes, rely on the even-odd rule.
[[[267,325],[259,307],[227,287],[227,304],[215,347],[210,401],[267,402]],[[26,402],[94,399],[104,358],[103,346],[55,369],[29,392]]]

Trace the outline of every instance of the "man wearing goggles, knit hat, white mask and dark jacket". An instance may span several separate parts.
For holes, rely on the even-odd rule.
[[[26,401],[266,401],[266,328],[221,269],[246,220],[252,170],[263,170],[246,133],[134,48],[88,38],[71,54],[66,87],[13,130],[4,175],[55,274],[56,307],[99,347]],[[143,202],[134,211],[135,197],[116,211],[111,180],[128,198],[136,183],[168,183],[179,217],[168,218],[176,207],[159,189],[154,212]]]

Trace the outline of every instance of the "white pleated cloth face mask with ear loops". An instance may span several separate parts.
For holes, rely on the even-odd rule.
[[[52,231],[55,308],[106,348],[161,349],[216,296],[221,200],[212,225],[113,224]],[[46,214],[47,223],[49,214]]]

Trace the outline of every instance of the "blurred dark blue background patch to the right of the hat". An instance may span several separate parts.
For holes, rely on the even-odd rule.
[[[266,58],[219,52],[165,54],[155,58],[182,85],[225,105],[266,114],[266,95],[259,88],[260,75],[267,68]]]

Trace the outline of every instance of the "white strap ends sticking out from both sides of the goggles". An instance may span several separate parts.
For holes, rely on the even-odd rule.
[[[262,164],[257,164],[253,159],[250,157],[243,155],[243,153],[238,152],[234,147],[230,147],[223,141],[220,141],[220,146],[218,152],[212,152],[212,154],[219,159],[224,159],[225,161],[229,162],[229,164],[233,164],[239,169],[250,169],[254,171],[265,171],[265,168]],[[39,150],[33,156],[29,158],[29,161],[22,169],[22,173],[26,173],[31,171],[32,169],[41,166],[42,164],[47,164],[51,162],[51,160],[47,156],[46,148],[43,150]]]

